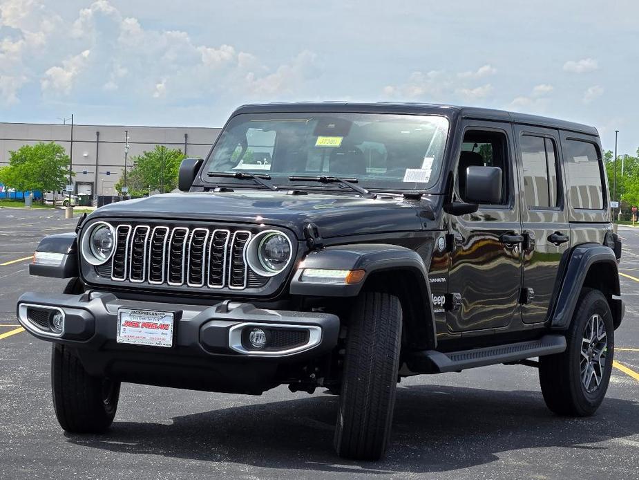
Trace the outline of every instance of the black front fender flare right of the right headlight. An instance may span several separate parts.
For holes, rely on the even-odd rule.
[[[365,276],[357,284],[319,284],[302,280],[304,268],[327,268],[335,270],[365,270]],[[294,274],[289,291],[292,295],[306,297],[356,297],[361,292],[367,279],[380,273],[407,272],[417,285],[411,290],[415,293],[410,297],[410,309],[414,318],[414,338],[417,342],[435,348],[437,332],[435,315],[432,312],[432,294],[428,268],[422,257],[410,248],[387,243],[359,243],[354,245],[330,246],[310,252]],[[378,277],[379,279],[379,277]],[[390,280],[389,280],[390,281]],[[391,288],[397,288],[391,285]],[[406,297],[406,295],[402,295]],[[419,295],[419,298],[415,298]],[[414,300],[414,301],[412,301]],[[408,312],[406,312],[408,314]]]

